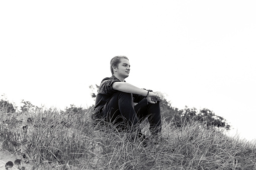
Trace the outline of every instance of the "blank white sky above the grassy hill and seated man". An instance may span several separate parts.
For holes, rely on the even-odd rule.
[[[127,82],[208,108],[255,139],[254,1],[1,1],[0,94],[64,109],[125,55]]]

